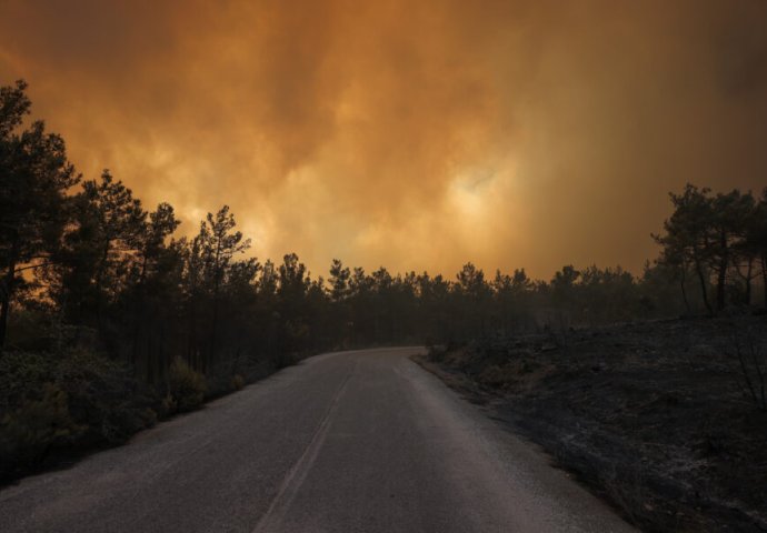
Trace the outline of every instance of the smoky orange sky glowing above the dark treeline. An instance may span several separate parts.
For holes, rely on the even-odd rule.
[[[316,274],[638,272],[668,191],[767,185],[763,0],[0,0],[17,78],[87,178]]]

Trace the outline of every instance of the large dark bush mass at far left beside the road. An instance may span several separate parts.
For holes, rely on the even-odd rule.
[[[0,476],[62,449],[123,442],[159,403],[129,370],[92,352],[6,352],[0,359]]]

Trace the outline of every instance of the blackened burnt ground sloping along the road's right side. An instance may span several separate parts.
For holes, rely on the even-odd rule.
[[[765,316],[570,329],[418,362],[645,531],[767,531],[767,412],[746,381],[760,400]]]

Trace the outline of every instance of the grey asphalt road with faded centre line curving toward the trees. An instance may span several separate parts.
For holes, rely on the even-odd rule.
[[[311,358],[24,479],[0,491],[0,531],[631,531],[416,350]]]

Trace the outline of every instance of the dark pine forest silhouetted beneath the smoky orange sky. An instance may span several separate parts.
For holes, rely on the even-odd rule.
[[[180,232],[173,207],[145,205],[128,179],[82,177],[30,111],[23,81],[0,89],[0,476],[122,442],[321,351],[767,302],[767,189],[670,193],[648,235],[659,254],[638,275],[564,265],[546,281],[467,262],[444,276],[340,259],[312,275],[296,253],[256,259],[227,205]]]

